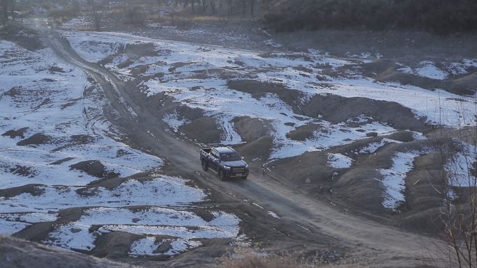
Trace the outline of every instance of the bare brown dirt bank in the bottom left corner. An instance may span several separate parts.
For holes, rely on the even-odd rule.
[[[5,236],[0,236],[0,252],[0,263],[3,268],[135,267]]]

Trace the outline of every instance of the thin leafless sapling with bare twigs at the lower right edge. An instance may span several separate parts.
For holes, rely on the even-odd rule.
[[[441,145],[445,199],[441,220],[455,266],[473,268],[477,267],[477,126],[459,125],[454,139]],[[445,134],[441,130],[439,140]]]

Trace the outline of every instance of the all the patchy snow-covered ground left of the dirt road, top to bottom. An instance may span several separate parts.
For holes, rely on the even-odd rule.
[[[168,250],[160,254],[176,255],[200,246],[200,239],[238,236],[236,216],[209,210],[213,219],[206,221],[189,212],[206,200],[204,191],[162,175],[162,159],[121,142],[123,134],[103,116],[107,100],[82,70],[50,49],[32,52],[3,40],[0,64],[0,189],[23,187],[0,196],[1,234],[54,222],[61,210],[82,207],[78,220],[54,223],[43,242],[90,251],[106,232],[132,232],[169,238],[149,243],[150,249],[137,241],[131,255],[156,255],[165,243]],[[83,161],[99,161],[106,173],[121,178],[144,172],[150,178],[88,187],[100,178],[71,168]]]

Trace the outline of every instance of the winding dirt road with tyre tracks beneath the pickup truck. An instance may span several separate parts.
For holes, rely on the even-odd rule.
[[[269,218],[268,211],[274,212],[280,216],[279,221],[285,226],[287,236],[294,239],[295,244],[328,244],[347,251],[347,255],[366,256],[379,267],[416,267],[445,261],[442,252],[447,252],[447,249],[440,240],[402,232],[348,214],[261,173],[250,173],[247,181],[221,182],[212,173],[202,171],[198,146],[167,132],[167,124],[136,103],[128,85],[116,74],[85,61],[58,33],[43,31],[48,44],[59,57],[82,68],[100,84],[115,110],[115,123],[126,130],[135,145],[167,159],[169,164],[181,171],[195,174],[200,184],[218,193],[222,200],[234,200],[237,204],[234,212],[239,216],[246,210],[257,211],[257,207],[262,210],[265,219]],[[114,114],[111,116],[114,117]],[[254,219],[250,220],[250,226],[253,221],[266,224],[266,220]],[[296,237],[292,237],[294,235]],[[272,237],[270,245],[274,242]]]

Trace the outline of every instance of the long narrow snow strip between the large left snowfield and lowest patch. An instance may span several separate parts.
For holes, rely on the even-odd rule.
[[[186,185],[181,178],[156,175],[153,180],[127,180],[109,190],[103,187],[36,187],[40,195],[29,193],[0,198],[2,212],[48,212],[68,207],[123,207],[130,205],[181,205],[197,203],[204,191]],[[84,195],[80,195],[83,192]]]

